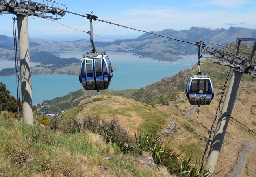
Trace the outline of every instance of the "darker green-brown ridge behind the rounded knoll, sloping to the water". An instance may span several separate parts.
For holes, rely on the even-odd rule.
[[[207,61],[203,61],[202,63],[206,62]],[[201,68],[203,73],[210,75],[211,81],[213,82],[214,86],[217,86],[218,83],[222,83],[225,81],[226,74],[229,70],[229,68],[226,66],[213,63],[202,64]],[[48,112],[52,112],[59,111],[59,109],[68,109],[72,107],[72,105],[78,105],[80,101],[84,98],[89,98],[90,96],[98,94],[110,94],[115,96],[122,96],[125,98],[133,98],[136,101],[141,101],[150,105],[158,103],[167,104],[168,101],[174,99],[175,92],[184,92],[184,90],[186,89],[188,77],[191,74],[195,74],[197,72],[197,69],[197,66],[193,66],[190,69],[178,72],[173,77],[165,77],[161,81],[153,83],[152,85],[141,87],[140,89],[104,90],[102,92],[85,91],[84,89],[79,89],[75,92],[71,92],[64,97],[50,100],[50,107],[45,108],[45,110]],[[251,76],[244,74],[242,81],[255,82],[256,79],[253,79]],[[58,107],[59,109],[57,109],[56,107]]]

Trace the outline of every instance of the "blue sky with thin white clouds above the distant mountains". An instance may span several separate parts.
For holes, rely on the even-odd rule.
[[[8,2],[9,0],[7,0]],[[43,0],[33,0],[43,2]],[[255,0],[55,0],[67,5],[67,11],[93,15],[99,19],[144,31],[163,29],[186,30],[195,27],[210,29],[230,26],[256,29]],[[13,15],[0,15],[0,35],[13,35]],[[89,31],[89,20],[66,14],[57,20],[62,24]],[[30,16],[29,36],[47,40],[89,39],[86,33],[61,26],[52,21]],[[93,21],[96,35],[110,39],[128,39],[142,35],[134,31],[99,21]]]

